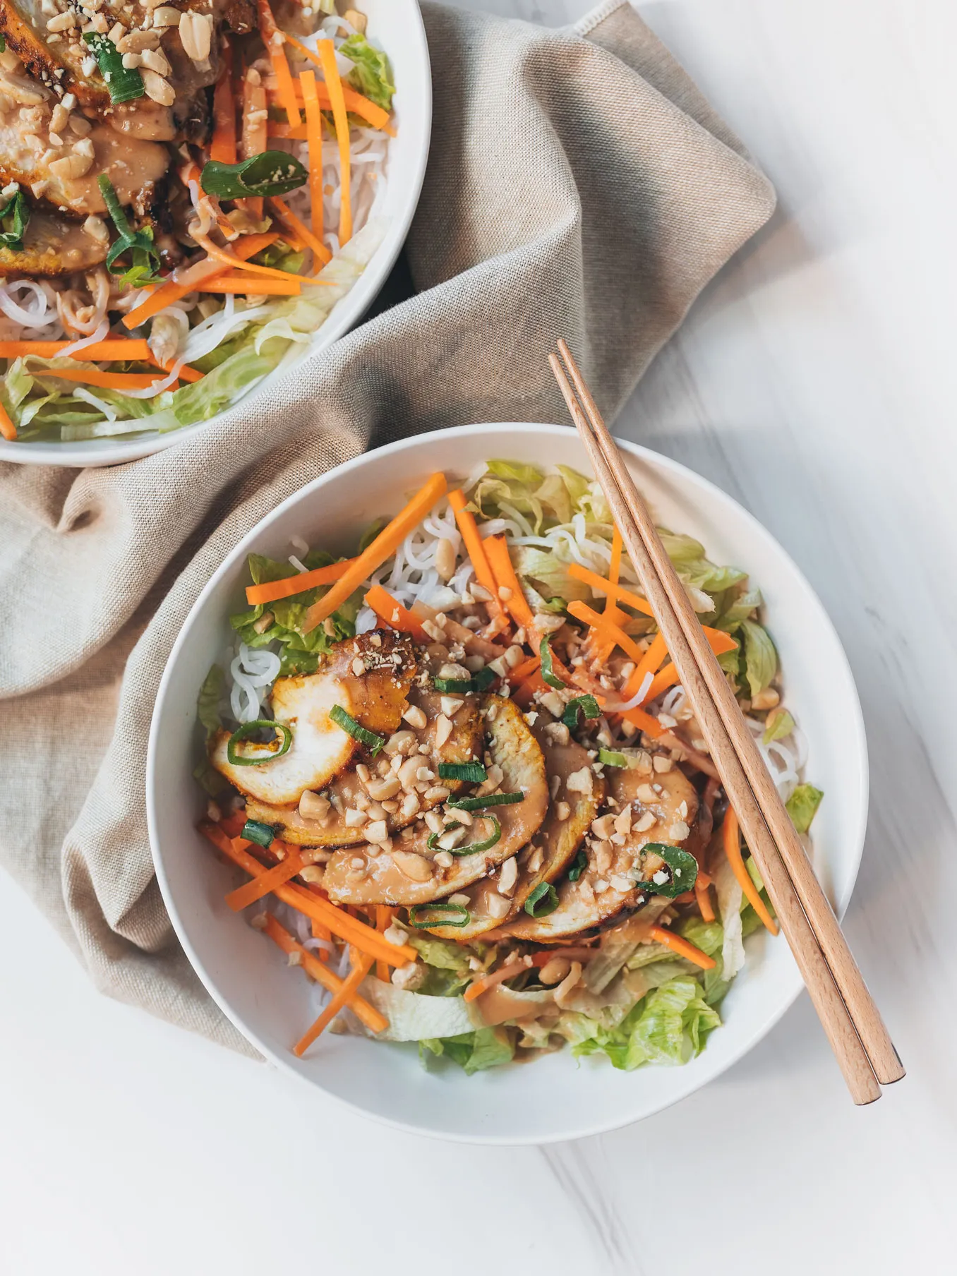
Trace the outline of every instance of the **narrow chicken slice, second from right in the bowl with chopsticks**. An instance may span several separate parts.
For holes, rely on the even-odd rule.
[[[555,882],[568,868],[605,798],[605,781],[592,773],[590,791],[568,789],[568,778],[591,767],[588,753],[569,739],[568,727],[541,712],[532,727],[545,757],[549,791],[554,792],[541,828],[513,859],[464,892],[467,926],[434,926],[443,939],[473,939],[521,912],[542,882]],[[464,901],[463,901],[464,902]]]

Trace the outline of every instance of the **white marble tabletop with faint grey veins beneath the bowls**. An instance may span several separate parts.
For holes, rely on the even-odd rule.
[[[587,8],[485,5],[551,23]],[[805,998],[639,1127],[547,1151],[444,1147],[98,998],[0,878],[5,1276],[954,1270],[957,19],[943,0],[643,13],[781,209],[619,430],[741,499],[837,623],[874,795],[847,929],[910,1076],[855,1110]]]

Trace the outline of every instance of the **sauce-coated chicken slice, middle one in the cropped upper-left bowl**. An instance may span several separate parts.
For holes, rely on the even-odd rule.
[[[0,71],[0,185],[17,181],[56,208],[87,217],[106,212],[97,185],[106,174],[121,204],[147,213],[170,166],[167,148],[124,138],[106,124],[94,124],[84,138],[69,130],[51,137],[55,107],[42,84]]]

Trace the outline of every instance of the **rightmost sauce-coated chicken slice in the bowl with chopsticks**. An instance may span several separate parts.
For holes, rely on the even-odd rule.
[[[642,849],[648,842],[684,845],[698,815],[698,795],[676,767],[652,776],[628,768],[614,769],[609,787],[618,804],[609,814],[620,817],[628,812],[633,826],[624,845],[590,838],[588,864],[577,882],[565,879],[558,888],[558,909],[545,917],[519,916],[494,931],[494,938],[542,944],[567,940],[570,935],[590,934],[623,920],[648,900],[635,882],[651,878],[661,863],[657,856],[643,855]],[[648,814],[655,817],[655,824],[639,832],[634,826]]]

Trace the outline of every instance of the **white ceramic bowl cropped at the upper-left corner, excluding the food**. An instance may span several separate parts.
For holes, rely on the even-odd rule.
[[[389,185],[383,217],[388,231],[355,287],[337,302],[329,318],[306,347],[305,357],[325,350],[359,323],[382,288],[412,223],[429,158],[433,120],[433,82],[429,45],[425,40],[419,0],[364,0],[369,36],[389,55],[394,71],[396,137],[389,143]],[[302,356],[292,350],[263,382],[241,394],[236,402],[251,398],[287,375],[291,364]],[[221,416],[222,413],[219,413]],[[43,466],[114,466],[138,461],[193,438],[209,421],[198,421],[168,434],[149,431],[122,439],[87,439],[80,443],[9,443],[0,439],[0,461]]]

